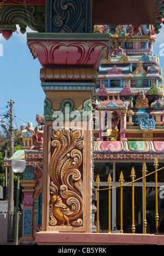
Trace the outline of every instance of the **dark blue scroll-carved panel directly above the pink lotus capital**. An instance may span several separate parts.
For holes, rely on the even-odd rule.
[[[48,1],[48,32],[91,33],[90,0]]]

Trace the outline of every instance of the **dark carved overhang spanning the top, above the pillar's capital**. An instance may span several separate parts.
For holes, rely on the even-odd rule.
[[[79,13],[77,20],[71,13]],[[26,26],[43,33],[92,33],[94,25],[110,25],[112,32],[119,24],[132,24],[134,30],[138,25],[150,24],[154,25],[155,33],[159,33],[163,18],[164,2],[158,0],[77,0],[67,4],[61,0],[0,1],[0,32],[7,40],[16,31],[16,25],[20,26],[21,33],[26,32]],[[83,30],[81,23],[84,23]]]

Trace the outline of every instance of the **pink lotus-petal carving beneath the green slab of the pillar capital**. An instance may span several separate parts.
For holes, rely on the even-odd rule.
[[[94,34],[96,38],[96,34]],[[89,41],[82,37],[81,42],[73,40],[28,40],[28,45],[34,58],[38,57],[43,67],[49,65],[76,65],[92,66],[97,69],[99,61],[107,56],[108,44],[106,41]],[[59,42],[60,41],[60,42]]]

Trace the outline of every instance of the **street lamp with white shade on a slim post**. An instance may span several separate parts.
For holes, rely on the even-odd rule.
[[[20,174],[25,171],[26,160],[12,160],[11,167],[13,172],[17,174],[17,192],[16,192],[16,214],[15,214],[15,245],[18,245],[19,231],[19,189],[20,189]]]

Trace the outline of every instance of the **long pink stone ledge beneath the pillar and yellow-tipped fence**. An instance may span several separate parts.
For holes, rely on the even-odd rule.
[[[36,233],[36,242],[38,245],[164,245],[164,236],[41,231]]]

